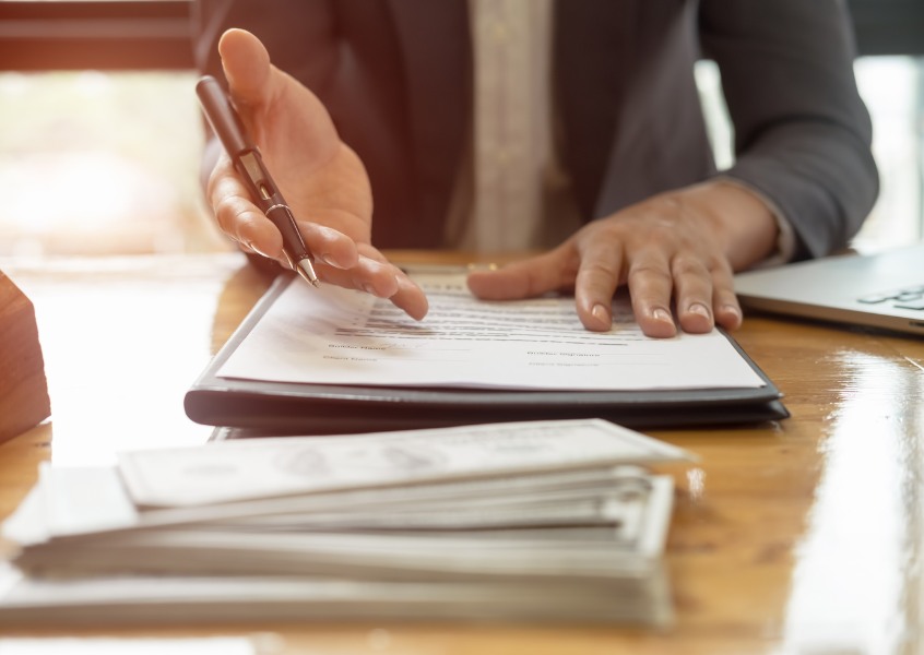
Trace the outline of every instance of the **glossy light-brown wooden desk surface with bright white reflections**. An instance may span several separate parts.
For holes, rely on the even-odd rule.
[[[8,260],[0,270],[36,307],[54,412],[0,445],[0,517],[40,461],[109,463],[116,450],[204,441],[210,429],[186,418],[182,394],[268,284],[237,255]],[[756,315],[735,336],[792,418],[649,432],[701,457],[675,473],[670,631],[321,623],[156,634],[270,631],[285,653],[917,652],[924,341]],[[144,633],[105,623],[43,632]]]

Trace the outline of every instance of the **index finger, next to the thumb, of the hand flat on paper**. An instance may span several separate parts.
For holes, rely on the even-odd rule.
[[[617,239],[589,239],[581,248],[574,302],[588,330],[605,332],[613,326],[613,294],[619,286],[623,259],[623,243]]]

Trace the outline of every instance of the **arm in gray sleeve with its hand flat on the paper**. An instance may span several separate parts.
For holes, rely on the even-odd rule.
[[[475,294],[573,288],[583,324],[607,330],[626,284],[649,335],[675,334],[675,317],[687,332],[734,329],[733,272],[767,259],[778,239],[765,198],[792,224],[797,255],[846,243],[877,182],[842,2],[703,0],[700,20],[738,136],[738,162],[723,174],[734,183],[716,177],[594,221],[538,258],[473,274]]]

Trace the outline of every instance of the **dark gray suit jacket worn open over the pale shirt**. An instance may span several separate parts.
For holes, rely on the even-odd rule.
[[[311,88],[372,183],[372,242],[434,248],[472,107],[466,0],[200,0],[197,57],[244,27]],[[771,199],[797,257],[843,247],[878,191],[843,0],[564,0],[554,87],[585,219],[716,175],[694,63],[714,59],[736,134],[725,175]]]

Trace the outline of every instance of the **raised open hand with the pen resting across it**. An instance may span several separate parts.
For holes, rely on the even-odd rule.
[[[218,43],[232,99],[295,214],[325,283],[390,298],[411,317],[427,298],[372,247],[372,193],[359,157],[344,144],[321,102],[270,63],[263,44],[242,29]],[[241,248],[285,265],[282,235],[250,200],[226,154],[209,179],[218,225]]]

